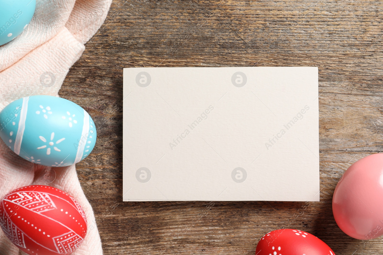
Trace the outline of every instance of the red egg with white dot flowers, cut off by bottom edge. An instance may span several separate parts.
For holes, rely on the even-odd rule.
[[[297,229],[278,229],[265,234],[256,255],[335,255],[321,239]]]

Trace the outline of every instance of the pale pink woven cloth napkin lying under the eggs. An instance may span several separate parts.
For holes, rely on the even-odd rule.
[[[13,41],[0,46],[0,110],[25,96],[57,93],[84,44],[105,21],[111,0],[37,0],[33,19]],[[86,160],[86,159],[85,159]],[[56,173],[47,184],[46,173]],[[73,255],[102,255],[92,207],[80,186],[75,166],[44,167],[13,153],[0,140],[0,197],[26,185],[49,185],[74,197],[85,211],[88,232]],[[0,254],[21,252],[0,231]]]

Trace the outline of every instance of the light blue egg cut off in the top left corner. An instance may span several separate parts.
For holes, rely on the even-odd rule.
[[[35,9],[36,0],[0,0],[0,45],[24,31]]]

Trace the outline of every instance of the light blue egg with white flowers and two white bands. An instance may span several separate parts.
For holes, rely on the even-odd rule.
[[[44,166],[70,166],[86,158],[96,143],[87,111],[55,96],[28,96],[0,112],[0,137],[21,158]]]

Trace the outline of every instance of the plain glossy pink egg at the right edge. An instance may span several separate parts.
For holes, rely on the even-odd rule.
[[[332,213],[350,237],[383,235],[383,153],[359,159],[343,174],[332,197]]]

